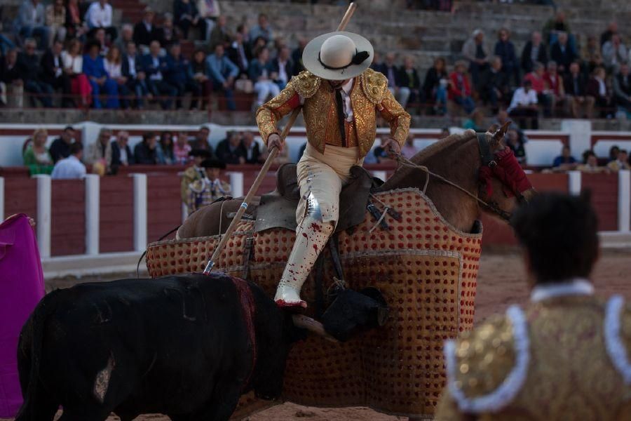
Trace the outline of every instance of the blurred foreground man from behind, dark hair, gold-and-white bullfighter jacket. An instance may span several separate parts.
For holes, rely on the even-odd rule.
[[[593,295],[587,276],[598,255],[595,213],[577,206],[581,199],[559,196],[536,197],[531,206],[548,201],[546,212],[560,215],[522,224],[522,210],[513,222],[520,240],[530,238],[522,243],[538,250],[527,252],[529,272],[562,269],[538,276],[525,309],[509,307],[447,342],[447,387],[436,421],[631,420],[631,306],[619,295]],[[562,220],[581,215],[587,224]]]

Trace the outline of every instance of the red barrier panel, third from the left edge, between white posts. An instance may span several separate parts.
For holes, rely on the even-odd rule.
[[[133,199],[133,178],[101,178],[99,224],[101,253],[134,249]]]

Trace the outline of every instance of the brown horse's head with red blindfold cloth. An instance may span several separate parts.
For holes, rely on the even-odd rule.
[[[478,197],[487,203],[484,210],[504,220],[510,218],[520,203],[529,201],[536,194],[513,150],[504,141],[509,126],[510,121],[507,121],[501,127],[493,125],[486,133],[477,134],[482,161],[478,173]]]

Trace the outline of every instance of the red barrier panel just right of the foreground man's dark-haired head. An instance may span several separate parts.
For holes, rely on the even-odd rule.
[[[617,231],[618,174],[583,173],[581,188],[592,192],[592,204],[598,215],[598,230]]]

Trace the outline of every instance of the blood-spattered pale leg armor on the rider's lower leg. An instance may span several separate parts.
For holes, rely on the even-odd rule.
[[[300,298],[302,284],[333,231],[334,223],[323,222],[320,203],[310,192],[306,214],[296,229],[296,241],[276,289],[274,301],[279,307],[307,307]]]

